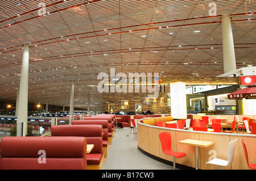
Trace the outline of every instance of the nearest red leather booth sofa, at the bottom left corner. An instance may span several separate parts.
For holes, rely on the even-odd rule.
[[[86,145],[85,137],[3,137],[0,170],[85,170]]]

